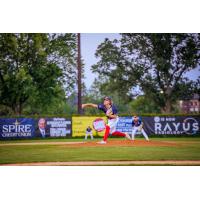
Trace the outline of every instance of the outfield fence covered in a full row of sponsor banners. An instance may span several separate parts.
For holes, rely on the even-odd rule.
[[[0,139],[9,138],[51,138],[82,137],[86,128],[92,127],[99,116],[38,117],[38,118],[0,118]],[[101,117],[107,122],[106,117]],[[155,115],[143,116],[144,130],[148,135],[197,135],[200,131],[199,115]],[[117,130],[132,132],[132,117],[121,116]],[[94,136],[103,136],[104,131]],[[140,134],[140,133],[138,133]]]

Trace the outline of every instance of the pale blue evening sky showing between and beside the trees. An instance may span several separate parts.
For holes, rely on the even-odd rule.
[[[119,39],[121,36],[118,33],[82,33],[81,34],[81,56],[85,64],[85,79],[87,89],[92,85],[97,74],[92,73],[91,66],[96,64],[95,52],[105,38]],[[190,79],[196,80],[200,76],[200,66],[186,74]]]

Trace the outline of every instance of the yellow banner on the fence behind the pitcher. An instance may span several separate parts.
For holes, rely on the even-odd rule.
[[[94,136],[103,136],[104,131],[97,132],[93,128],[93,121],[97,118],[102,118],[107,123],[106,117],[99,116],[74,116],[72,117],[72,137],[84,136],[88,126],[92,128]]]

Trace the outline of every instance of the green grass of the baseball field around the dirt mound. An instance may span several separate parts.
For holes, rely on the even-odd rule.
[[[120,140],[120,139],[110,139]],[[142,139],[138,139],[142,140]],[[152,138],[152,141],[175,142],[175,146],[97,146],[33,145],[35,142],[72,142],[83,139],[45,139],[0,141],[0,164],[66,161],[200,160],[200,138]],[[88,140],[90,141],[90,140]],[[23,143],[30,145],[1,146]]]

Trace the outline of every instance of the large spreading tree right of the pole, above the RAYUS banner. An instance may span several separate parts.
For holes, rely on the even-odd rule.
[[[131,95],[139,86],[162,112],[170,113],[195,84],[184,74],[200,65],[200,34],[122,34],[120,40],[105,39],[96,57],[93,72],[106,76],[112,91]]]

